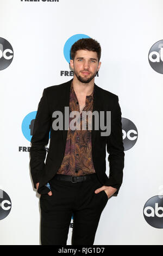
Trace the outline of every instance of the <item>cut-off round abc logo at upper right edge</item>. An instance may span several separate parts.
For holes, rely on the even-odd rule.
[[[148,53],[151,67],[158,73],[163,74],[163,40],[155,42]]]

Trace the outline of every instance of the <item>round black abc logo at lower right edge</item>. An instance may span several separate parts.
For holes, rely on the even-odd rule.
[[[163,198],[160,196],[150,198],[143,208],[143,215],[152,227],[163,228]]]

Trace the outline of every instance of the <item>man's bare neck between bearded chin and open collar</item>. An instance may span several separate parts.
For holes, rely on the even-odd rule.
[[[78,80],[76,76],[73,77],[73,89],[76,95],[86,96],[90,95],[94,89],[95,78],[93,78],[89,83],[82,83]]]

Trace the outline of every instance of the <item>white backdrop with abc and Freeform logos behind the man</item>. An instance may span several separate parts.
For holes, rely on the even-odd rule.
[[[94,245],[163,244],[162,11],[162,0],[0,0],[1,245],[40,245],[30,139],[43,89],[73,77],[80,38],[101,44],[95,83],[119,97],[125,149]],[[67,245],[72,230],[73,217]]]

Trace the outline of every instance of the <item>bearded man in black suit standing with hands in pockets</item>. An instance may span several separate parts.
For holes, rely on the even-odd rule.
[[[100,58],[101,46],[96,40],[75,42],[70,60],[73,79],[45,88],[39,102],[30,171],[41,194],[42,245],[66,245],[72,215],[72,245],[93,245],[101,213],[122,184],[121,108],[117,95],[95,84]],[[92,114],[91,119],[84,118],[85,111]],[[81,129],[83,123],[86,129]],[[105,173],[106,150],[109,177]]]

